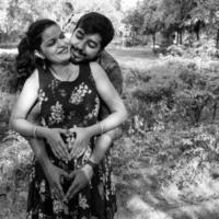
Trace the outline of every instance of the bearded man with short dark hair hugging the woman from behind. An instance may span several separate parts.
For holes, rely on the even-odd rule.
[[[122,93],[123,79],[120,68],[114,58],[104,50],[107,44],[112,41],[113,36],[114,28],[107,18],[95,12],[83,15],[79,19],[70,38],[72,54],[71,60],[74,64],[96,60],[106,71],[110,80],[118,93]],[[35,115],[36,114],[37,111]],[[101,102],[101,118],[106,117],[108,114],[110,110],[103,102]],[[33,119],[35,115],[33,112],[30,119]],[[102,135],[96,140],[96,146],[90,158],[91,162],[89,165],[84,166],[82,170],[74,171],[70,175],[49,162],[43,141],[39,139],[30,139],[30,143],[36,159],[45,172],[47,180],[49,181],[50,187],[60,199],[70,199],[89,183],[93,174],[93,169],[104,158],[106,151],[112,146],[113,140],[119,136],[119,132],[120,131],[116,129]],[[61,153],[65,155],[65,151],[61,151]],[[62,176],[73,178],[73,183],[71,184],[67,195],[64,194],[61,187]]]

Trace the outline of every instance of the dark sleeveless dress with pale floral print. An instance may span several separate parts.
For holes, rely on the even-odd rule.
[[[49,128],[87,127],[97,123],[100,97],[95,89],[90,65],[79,66],[74,81],[60,81],[50,71],[38,70],[42,126]],[[68,143],[68,137],[64,141]],[[50,161],[67,172],[84,165],[90,158],[95,138],[90,140],[83,153],[71,161],[57,158],[48,143]],[[112,219],[116,211],[115,183],[111,166],[111,152],[94,170],[91,182],[68,204],[51,194],[39,163],[34,159],[30,174],[27,219]],[[71,182],[64,180],[67,193]]]

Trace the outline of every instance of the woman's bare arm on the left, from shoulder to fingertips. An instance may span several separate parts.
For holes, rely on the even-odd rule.
[[[60,136],[60,134],[66,134],[65,129],[50,129],[47,127],[35,125],[28,122],[26,118],[28,112],[37,101],[38,88],[38,72],[37,70],[35,70],[24,83],[21,94],[13,107],[10,117],[10,126],[22,136],[47,139],[53,150],[56,150],[62,157],[69,159],[68,149],[65,146]]]

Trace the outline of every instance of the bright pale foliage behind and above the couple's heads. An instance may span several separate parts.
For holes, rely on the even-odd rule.
[[[19,41],[18,36],[23,35],[23,32],[27,30],[27,26],[33,21],[41,18],[48,18],[57,21],[60,26],[67,32],[71,32],[73,24],[80,15],[89,11],[97,11],[107,15],[115,27],[119,27],[122,20],[122,11],[119,11],[120,1],[100,1],[100,0],[5,0],[1,1],[0,8],[1,23],[0,32],[7,34],[7,38],[2,41],[14,41],[12,35],[15,35],[15,42]],[[84,7],[85,5],[85,7]],[[71,25],[69,25],[70,23]]]

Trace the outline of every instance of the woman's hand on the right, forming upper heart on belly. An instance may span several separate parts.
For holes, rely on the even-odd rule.
[[[69,131],[74,135],[74,139],[69,143],[70,158],[73,159],[84,152],[92,135],[88,128],[74,127],[70,128]]]

